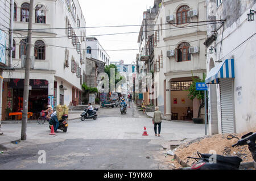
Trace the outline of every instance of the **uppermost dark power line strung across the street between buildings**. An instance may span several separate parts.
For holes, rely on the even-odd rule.
[[[73,29],[86,29],[86,28],[113,28],[113,27],[135,27],[135,26],[156,26],[156,25],[181,25],[190,23],[207,23],[207,22],[225,22],[226,20],[205,20],[199,22],[189,22],[189,23],[164,23],[164,24],[132,24],[132,25],[119,25],[119,26],[94,26],[94,27],[74,27]],[[28,31],[28,30],[67,30],[68,28],[31,28],[31,29],[15,29],[15,31]]]

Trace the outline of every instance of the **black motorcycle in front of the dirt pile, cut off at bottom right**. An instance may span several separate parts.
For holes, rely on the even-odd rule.
[[[232,134],[227,136],[228,140],[233,138],[237,137],[233,136]],[[237,139],[239,141],[232,145],[232,147],[234,148],[235,146],[242,146],[247,144],[249,146],[249,150],[251,151],[251,155],[253,156],[254,162],[256,162],[256,132],[247,133],[242,136],[241,139]],[[195,164],[193,164],[191,170],[239,170],[240,164],[242,162],[242,159],[239,157],[225,157],[222,155],[201,154],[199,152],[197,152],[197,155],[199,155],[199,158],[188,157],[197,161]],[[216,157],[214,158],[214,156]]]

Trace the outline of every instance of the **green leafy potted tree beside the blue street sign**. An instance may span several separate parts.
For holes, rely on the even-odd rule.
[[[197,118],[200,117],[201,109],[204,107],[204,91],[197,91],[196,90],[196,83],[197,82],[205,82],[205,78],[206,78],[205,73],[203,73],[203,79],[195,78],[193,76],[193,73],[192,73],[192,81],[193,82],[192,82],[192,85],[188,89],[188,91],[189,91],[188,98],[191,99],[191,100],[196,98],[200,102]]]

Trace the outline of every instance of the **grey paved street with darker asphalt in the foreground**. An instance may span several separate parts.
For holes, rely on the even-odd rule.
[[[151,118],[135,107],[121,115],[119,108],[98,111],[97,120],[69,121],[68,132],[49,135],[47,123],[28,124],[27,141],[12,144],[0,155],[0,169],[161,169],[162,144],[204,136],[204,125],[163,120],[161,137],[154,136]],[[148,136],[142,136],[143,128]],[[3,132],[20,136],[21,124],[5,124]],[[46,163],[38,163],[39,150]]]

